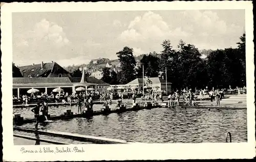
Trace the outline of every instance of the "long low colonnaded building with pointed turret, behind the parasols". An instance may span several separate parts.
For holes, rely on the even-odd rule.
[[[51,73],[50,73],[51,74]],[[58,74],[58,73],[57,73]],[[54,73],[53,75],[54,76]],[[106,91],[110,84],[105,83],[94,77],[86,77],[83,70],[82,77],[20,77],[13,78],[13,95],[18,98],[20,95],[28,95],[27,91],[31,88],[36,88],[40,92],[51,94],[54,88],[62,88],[65,92],[71,94],[75,92],[77,87],[94,88],[98,91]]]

